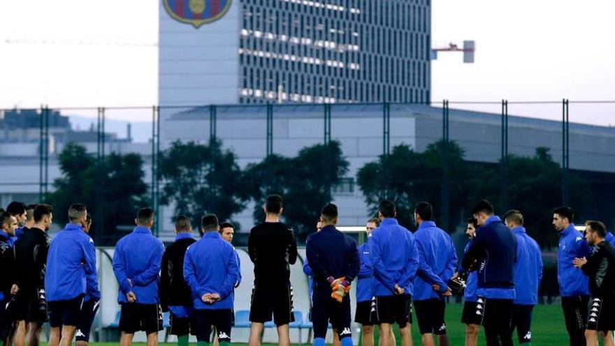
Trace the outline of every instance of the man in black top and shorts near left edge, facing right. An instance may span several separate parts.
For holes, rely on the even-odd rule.
[[[25,343],[38,345],[41,327],[47,322],[47,302],[45,301],[45,269],[47,253],[51,238],[46,231],[52,222],[53,209],[48,204],[39,204],[34,208],[34,226],[25,232],[15,243],[15,260],[17,262],[16,284],[17,321],[20,329],[26,331]],[[23,345],[19,331],[15,336],[15,345]]]

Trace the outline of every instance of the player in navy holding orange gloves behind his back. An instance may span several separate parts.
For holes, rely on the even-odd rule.
[[[342,346],[352,346],[350,331],[350,283],[359,273],[356,241],[335,229],[338,207],[327,204],[321,211],[322,229],[307,237],[305,254],[314,276],[312,323],[314,346],[324,346],[327,326],[338,331]]]

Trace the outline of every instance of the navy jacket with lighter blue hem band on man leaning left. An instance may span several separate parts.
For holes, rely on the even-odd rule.
[[[514,300],[514,264],[516,239],[498,216],[491,216],[479,227],[462,266],[477,261],[477,294],[485,298]]]

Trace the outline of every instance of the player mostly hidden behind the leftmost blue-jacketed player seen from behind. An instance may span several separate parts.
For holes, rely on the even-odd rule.
[[[83,231],[89,235],[89,229],[91,228],[92,215],[88,212],[85,217],[85,224],[83,224]],[[75,331],[77,346],[89,345],[89,332],[92,330],[92,323],[94,323],[94,317],[96,317],[96,312],[99,310],[99,303],[101,301],[101,293],[98,288],[96,273],[88,275],[87,284],[92,287],[89,287],[83,298],[81,317],[77,326],[77,331]]]

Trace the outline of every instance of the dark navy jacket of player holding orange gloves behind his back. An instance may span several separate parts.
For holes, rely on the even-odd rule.
[[[352,282],[361,266],[356,241],[335,229],[333,225],[324,226],[307,237],[305,255],[314,277],[312,294],[319,297],[331,296],[327,277],[345,277],[347,282]]]

